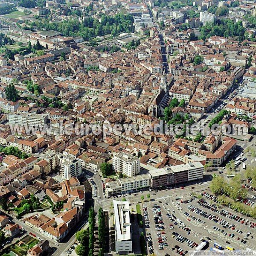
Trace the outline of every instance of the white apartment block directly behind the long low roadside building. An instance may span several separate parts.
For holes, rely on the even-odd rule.
[[[113,169],[128,177],[137,175],[140,172],[140,158],[121,152],[113,157]]]

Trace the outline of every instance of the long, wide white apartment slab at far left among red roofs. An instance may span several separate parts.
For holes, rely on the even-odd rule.
[[[8,115],[9,125],[24,125],[44,127],[47,122],[47,114],[31,114],[31,113],[10,113]]]

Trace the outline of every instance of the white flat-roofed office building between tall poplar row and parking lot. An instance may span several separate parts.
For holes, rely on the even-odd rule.
[[[116,253],[132,252],[129,202],[113,200],[115,214]]]

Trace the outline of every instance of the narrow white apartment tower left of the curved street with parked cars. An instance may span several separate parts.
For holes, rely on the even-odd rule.
[[[72,177],[77,177],[82,173],[81,160],[71,156],[65,156],[60,159],[61,174],[65,180],[70,180]]]

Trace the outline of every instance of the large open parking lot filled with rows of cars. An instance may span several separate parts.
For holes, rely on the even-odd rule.
[[[207,250],[214,242],[223,248],[256,249],[256,221],[220,207],[207,192],[203,195],[203,200],[191,197],[187,204],[170,195],[143,205],[148,254],[185,256],[204,240]]]

